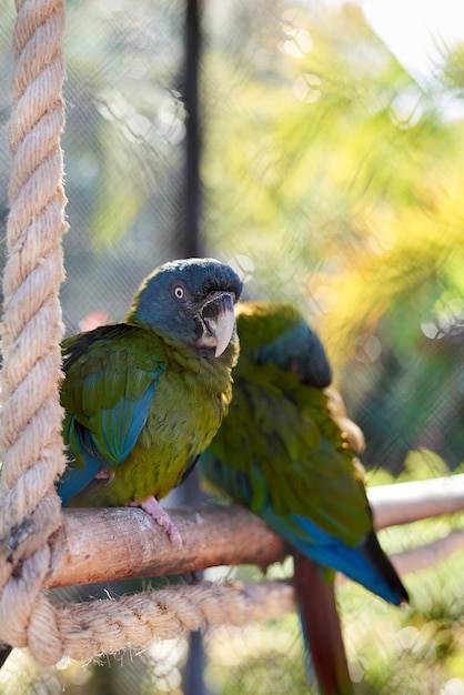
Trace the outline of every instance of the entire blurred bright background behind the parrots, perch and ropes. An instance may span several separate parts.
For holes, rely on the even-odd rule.
[[[369,1],[67,2],[68,333],[122,320],[167,260],[226,261],[245,296],[295,302],[320,332],[371,484],[464,460],[464,42],[433,19],[424,30],[427,3],[387,6],[392,34]],[[457,26],[458,3],[440,6]],[[13,3],[0,14],[3,256]],[[381,541],[397,551],[460,525]],[[340,587],[356,694],[464,694],[463,572],[455,555],[407,576],[404,612]],[[193,652],[178,639],[85,667],[9,664],[6,695],[307,693],[296,616],[208,631]]]

